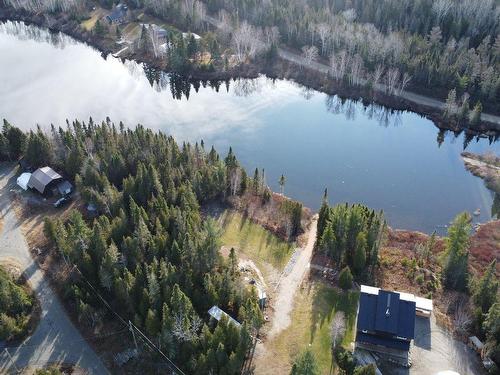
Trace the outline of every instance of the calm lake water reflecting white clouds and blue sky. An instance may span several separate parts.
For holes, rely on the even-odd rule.
[[[285,193],[313,209],[327,187],[331,202],[383,209],[398,228],[442,232],[456,214],[477,208],[476,220],[490,219],[492,193],[460,157],[464,136],[446,134],[439,146],[439,129],[415,113],[264,77],[197,92],[197,85],[171,81],[69,37],[0,24],[0,118],[23,129],[109,116],[179,141],[203,139],[222,155],[232,146],[250,175],[265,168],[278,190],[283,173]],[[500,154],[488,139],[473,139],[467,150]]]

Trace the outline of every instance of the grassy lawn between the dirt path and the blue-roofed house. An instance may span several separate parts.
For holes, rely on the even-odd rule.
[[[290,326],[266,342],[267,353],[256,359],[256,369],[266,369],[266,373],[288,373],[295,356],[311,349],[320,373],[330,374],[334,368],[330,349],[332,319],[337,311],[345,313],[347,330],[342,345],[350,349],[354,341],[358,298],[358,292],[344,294],[322,282],[307,283],[296,294]]]

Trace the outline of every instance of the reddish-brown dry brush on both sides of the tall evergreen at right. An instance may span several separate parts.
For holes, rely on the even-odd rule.
[[[377,285],[432,298],[437,319],[462,336],[466,333],[464,325],[469,323],[471,316],[469,297],[441,287],[439,256],[445,246],[443,238],[437,238],[430,262],[423,264],[418,260],[416,249],[428,237],[420,232],[389,230],[386,246],[380,251]],[[471,237],[469,262],[472,274],[481,275],[493,258],[500,260],[500,221],[481,225]],[[499,271],[497,265],[497,274]]]

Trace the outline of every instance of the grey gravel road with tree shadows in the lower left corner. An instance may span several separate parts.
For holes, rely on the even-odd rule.
[[[0,164],[0,217],[3,228],[0,232],[0,262],[16,262],[28,283],[35,291],[41,305],[41,318],[33,335],[18,347],[7,347],[0,352],[0,373],[16,373],[17,368],[42,367],[49,363],[74,364],[89,374],[108,374],[102,361],[85,339],[80,335],[48,280],[31,258],[28,244],[21,231],[20,223],[12,209],[9,189],[15,183],[11,166]]]

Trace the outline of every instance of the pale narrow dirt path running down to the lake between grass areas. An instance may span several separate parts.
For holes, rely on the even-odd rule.
[[[309,268],[314,242],[316,240],[317,224],[318,219],[315,216],[309,228],[306,246],[300,251],[299,256],[295,260],[295,264],[290,271],[286,275],[283,275],[280,280],[277,296],[274,301],[274,314],[271,318],[272,326],[269,330],[269,339],[272,339],[274,336],[279,334],[291,323],[290,313],[293,308],[295,292],[299,288],[300,283]]]

